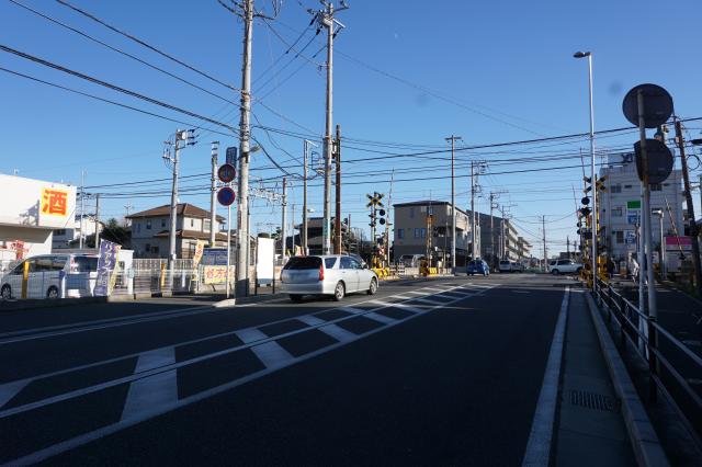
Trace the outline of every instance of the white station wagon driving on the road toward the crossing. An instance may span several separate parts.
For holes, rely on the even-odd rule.
[[[377,275],[347,255],[293,257],[281,272],[281,292],[293,301],[304,295],[325,295],[336,301],[354,292],[377,292]]]

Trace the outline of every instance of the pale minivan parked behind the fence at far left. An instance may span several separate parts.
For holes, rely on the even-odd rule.
[[[22,296],[25,263],[29,264],[27,298],[92,296],[98,278],[98,255],[57,253],[27,258],[3,275],[0,284],[2,298]]]

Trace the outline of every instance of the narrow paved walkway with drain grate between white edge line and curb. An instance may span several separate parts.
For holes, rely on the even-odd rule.
[[[556,466],[636,465],[621,401],[580,289],[570,292],[554,431]]]

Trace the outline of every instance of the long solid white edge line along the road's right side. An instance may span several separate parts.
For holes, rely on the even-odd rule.
[[[548,361],[544,372],[544,380],[539,394],[534,419],[531,423],[531,433],[526,443],[526,452],[522,460],[522,467],[548,465],[551,458],[551,444],[553,438],[553,425],[556,417],[556,399],[558,398],[558,380],[561,378],[561,361],[563,358],[563,343],[565,341],[566,321],[568,318],[568,298],[570,287],[561,303],[561,311],[556,321],[556,329],[551,341]]]

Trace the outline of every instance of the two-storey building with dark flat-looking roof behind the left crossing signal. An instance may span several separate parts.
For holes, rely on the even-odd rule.
[[[431,254],[451,263],[452,205],[445,201],[418,201],[393,205],[393,254]],[[428,216],[432,215],[431,231]],[[456,208],[456,265],[464,265],[472,255],[471,219],[468,213]],[[479,239],[479,235],[478,235]],[[478,240],[479,241],[479,240]],[[476,241],[476,243],[478,243]],[[479,249],[476,248],[476,251]]]

